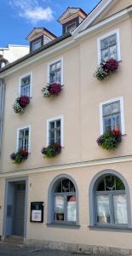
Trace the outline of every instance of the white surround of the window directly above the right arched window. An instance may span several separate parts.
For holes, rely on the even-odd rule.
[[[124,113],[123,113],[123,96],[120,96],[118,98],[114,98],[111,100],[108,100],[106,102],[100,102],[100,135],[104,133],[104,125],[103,125],[103,105],[112,103],[112,102],[120,102],[120,111],[121,111],[121,132],[122,135],[125,134],[125,128],[124,128]]]

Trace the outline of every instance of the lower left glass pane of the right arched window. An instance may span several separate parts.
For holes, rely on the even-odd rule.
[[[100,224],[110,223],[110,206],[108,195],[97,195],[97,222]]]

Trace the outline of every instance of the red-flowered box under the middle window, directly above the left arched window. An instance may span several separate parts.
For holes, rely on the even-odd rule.
[[[61,146],[59,143],[54,143],[48,147],[41,149],[41,153],[48,158],[55,157],[57,154],[60,154],[60,152]]]

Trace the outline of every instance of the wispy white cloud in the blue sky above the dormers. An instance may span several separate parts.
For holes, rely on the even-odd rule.
[[[43,8],[37,0],[10,0],[9,4],[12,8],[17,9],[20,17],[24,17],[32,23],[54,19],[53,10],[50,7]]]

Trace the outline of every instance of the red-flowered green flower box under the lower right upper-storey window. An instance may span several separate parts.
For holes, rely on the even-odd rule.
[[[119,130],[106,131],[97,139],[97,143],[100,147],[106,150],[114,150],[118,147],[118,144],[122,141],[122,135]]]

